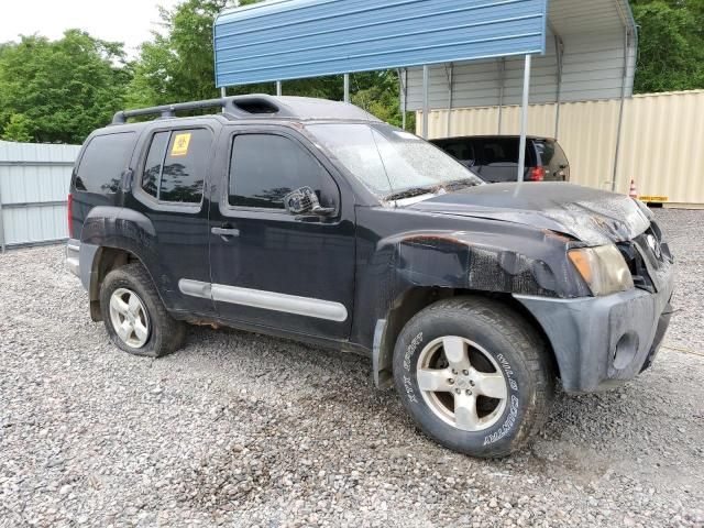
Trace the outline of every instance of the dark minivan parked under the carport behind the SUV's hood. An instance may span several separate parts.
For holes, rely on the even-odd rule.
[[[472,135],[432,140],[444,152],[474,170],[484,182],[518,179],[517,135]],[[569,182],[570,163],[560,144],[549,138],[528,136],[525,182]]]

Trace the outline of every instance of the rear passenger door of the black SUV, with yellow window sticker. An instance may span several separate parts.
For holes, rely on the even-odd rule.
[[[215,124],[215,123],[213,123]],[[210,279],[208,201],[204,191],[213,158],[217,129],[202,120],[179,120],[178,127],[151,128],[125,207],[146,216],[155,233],[142,240],[141,254],[157,287],[178,299],[169,308],[213,314],[211,299],[183,295],[179,282]]]

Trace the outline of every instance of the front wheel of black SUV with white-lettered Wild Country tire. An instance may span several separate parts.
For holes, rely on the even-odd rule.
[[[430,438],[472,457],[504,457],[544,424],[554,376],[543,340],[495,300],[438,301],[402,330],[394,381]]]

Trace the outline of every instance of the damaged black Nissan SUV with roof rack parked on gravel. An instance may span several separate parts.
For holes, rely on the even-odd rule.
[[[174,117],[206,107],[222,112]],[[671,312],[672,258],[642,204],[483,185],[339,102],[119,112],[80,152],[69,224],[67,264],[120,349],[167,354],[206,323],[362,352],[428,436],[479,457],[524,444],[557,378],[584,393],[635,377]]]

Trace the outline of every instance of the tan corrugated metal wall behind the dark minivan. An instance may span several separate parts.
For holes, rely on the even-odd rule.
[[[610,189],[619,100],[570,102],[560,109],[560,144],[572,182]],[[554,135],[556,105],[530,107],[528,133]],[[447,111],[430,113],[430,138],[447,135]],[[418,119],[418,123],[420,123]],[[498,108],[451,112],[452,135],[496,134]],[[503,133],[518,134],[520,108],[504,108]],[[704,90],[635,96],[626,101],[618,193],[636,180],[640,196],[704,205]]]

